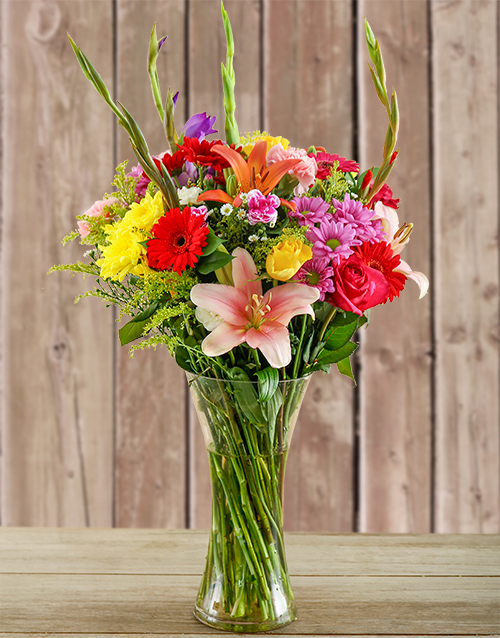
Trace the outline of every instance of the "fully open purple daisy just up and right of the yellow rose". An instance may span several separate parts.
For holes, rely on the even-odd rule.
[[[313,258],[335,259],[339,263],[341,257],[352,255],[351,246],[360,246],[356,239],[356,228],[346,224],[342,219],[325,218],[319,228],[314,226],[306,231],[306,238],[313,242]]]

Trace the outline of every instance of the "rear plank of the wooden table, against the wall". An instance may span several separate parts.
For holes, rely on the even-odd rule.
[[[201,576],[201,530],[0,531],[0,573]],[[285,535],[292,576],[498,576],[498,535]]]

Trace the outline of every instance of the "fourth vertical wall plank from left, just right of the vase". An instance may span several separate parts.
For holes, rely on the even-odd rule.
[[[352,157],[352,5],[266,0],[264,127]],[[334,366],[335,368],[335,366]],[[354,529],[352,382],[316,373],[288,458],[285,529]]]

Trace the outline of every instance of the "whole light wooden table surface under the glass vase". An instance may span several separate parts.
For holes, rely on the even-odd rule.
[[[214,635],[192,615],[207,539],[0,528],[0,638]],[[500,536],[288,534],[286,545],[298,620],[271,633],[500,635]]]

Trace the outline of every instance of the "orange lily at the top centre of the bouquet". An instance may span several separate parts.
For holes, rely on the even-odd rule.
[[[206,191],[198,197],[199,202],[223,202],[224,204],[239,206],[241,204],[240,193],[248,193],[254,188],[263,195],[268,195],[277,186],[283,175],[301,161],[300,159],[282,160],[266,167],[267,142],[264,140],[257,142],[247,161],[243,159],[240,153],[229,146],[217,145],[212,148],[212,151],[222,155],[229,162],[240,185],[240,191],[234,198],[220,188]],[[286,205],[290,204],[290,202],[284,200],[282,202]]]

